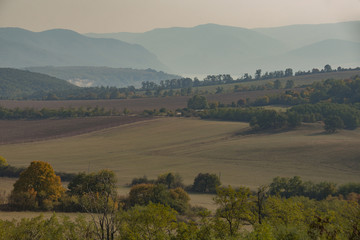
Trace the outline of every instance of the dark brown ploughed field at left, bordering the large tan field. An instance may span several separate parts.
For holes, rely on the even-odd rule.
[[[44,120],[0,120],[0,145],[70,137],[146,119],[148,118],[112,116]]]

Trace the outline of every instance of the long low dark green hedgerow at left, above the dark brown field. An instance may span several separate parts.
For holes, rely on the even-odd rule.
[[[71,117],[95,117],[119,115],[115,110],[105,110],[100,107],[79,107],[59,109],[35,109],[35,108],[4,108],[0,106],[0,119],[47,119],[47,118],[71,118]]]

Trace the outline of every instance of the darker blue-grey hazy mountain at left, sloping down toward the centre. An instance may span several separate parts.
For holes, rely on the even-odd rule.
[[[0,28],[0,67],[49,65],[166,69],[154,54],[137,44],[89,38],[63,29],[30,32]]]

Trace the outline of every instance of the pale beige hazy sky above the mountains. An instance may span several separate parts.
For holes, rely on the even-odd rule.
[[[360,20],[360,0],[0,0],[0,27],[143,32],[216,23],[246,28]]]

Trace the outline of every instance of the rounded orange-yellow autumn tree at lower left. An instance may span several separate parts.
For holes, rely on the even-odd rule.
[[[21,208],[51,209],[65,189],[59,176],[47,162],[34,161],[20,174],[10,200]]]

